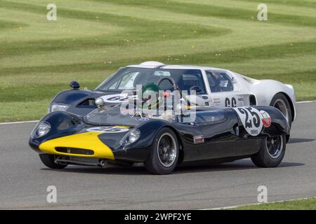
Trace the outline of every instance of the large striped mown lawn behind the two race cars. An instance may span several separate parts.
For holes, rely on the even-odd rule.
[[[51,2],[50,2],[51,3]],[[316,99],[316,3],[261,1],[0,0],[0,122],[39,119],[71,80],[96,87],[119,67],[157,60],[217,66],[294,85]]]

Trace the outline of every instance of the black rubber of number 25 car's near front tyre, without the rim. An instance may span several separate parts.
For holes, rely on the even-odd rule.
[[[173,162],[173,165],[171,165],[170,167],[164,167],[164,165],[162,165],[162,162],[160,162],[158,158],[158,153],[157,153],[159,138],[162,136],[162,134],[166,132],[171,134],[176,141],[176,150],[177,150],[176,160]],[[159,132],[157,132],[156,137],[154,137],[154,141],[152,143],[152,148],[150,152],[150,157],[147,158],[147,160],[145,161],[145,167],[147,171],[152,174],[170,174],[173,171],[173,169],[176,168],[176,165],[178,163],[178,158],[179,158],[178,138],[176,137],[176,134],[173,132],[173,130],[171,130],[168,127],[163,127],[161,130],[159,130]]]

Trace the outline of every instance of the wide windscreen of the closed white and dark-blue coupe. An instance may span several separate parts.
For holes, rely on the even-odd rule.
[[[202,72],[199,69],[147,69],[137,67],[126,67],[120,69],[113,76],[105,80],[96,90],[118,91],[136,90],[136,85],[156,83],[163,77],[173,78],[180,90],[190,90],[198,86],[202,91],[199,94],[206,94]],[[172,90],[168,80],[163,80],[159,86],[162,90]]]

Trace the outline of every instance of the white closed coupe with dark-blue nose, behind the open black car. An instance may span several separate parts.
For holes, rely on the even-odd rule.
[[[167,78],[166,78],[167,77]],[[162,90],[171,90],[173,80],[180,90],[195,90],[197,106],[274,106],[291,125],[296,116],[295,94],[292,85],[277,80],[256,80],[226,69],[207,66],[166,65],[143,62],[125,66],[101,83],[96,90],[73,90],[58,93],[48,111],[68,111],[80,116],[96,109],[94,100],[103,97],[105,104],[117,104],[126,99],[123,90],[136,90],[136,85],[159,84]],[[164,79],[162,83],[159,80]]]

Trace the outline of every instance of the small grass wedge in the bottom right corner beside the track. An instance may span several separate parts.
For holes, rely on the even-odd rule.
[[[232,210],[315,210],[316,198],[236,207]]]

